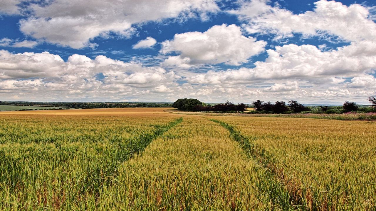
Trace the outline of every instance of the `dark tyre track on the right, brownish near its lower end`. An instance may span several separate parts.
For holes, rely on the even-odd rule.
[[[271,180],[274,180],[276,182],[276,188],[285,189],[289,193],[290,197],[290,203],[294,208],[298,208],[299,210],[311,210],[313,199],[310,197],[307,197],[306,194],[306,200],[302,196],[302,190],[300,190],[300,187],[294,184],[300,184],[299,180],[286,178],[284,175],[284,171],[281,168],[278,168],[273,163],[273,158],[271,155],[268,155],[266,151],[263,149],[260,151],[256,145],[256,143],[253,143],[251,140],[249,140],[248,137],[241,134],[239,131],[237,131],[232,125],[227,124],[226,122],[219,121],[217,119],[210,119],[213,122],[216,122],[220,124],[222,127],[226,128],[230,132],[230,136],[233,140],[238,142],[243,148],[243,150],[246,152],[246,154],[258,161],[264,169],[267,170],[267,176]],[[281,204],[283,202],[283,199],[279,196],[275,196],[276,198],[273,200],[274,203]],[[287,210],[289,209],[290,205],[282,204],[284,208]]]

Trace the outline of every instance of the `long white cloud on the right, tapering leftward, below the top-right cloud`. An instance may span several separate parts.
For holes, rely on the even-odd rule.
[[[376,68],[376,43],[362,42],[323,52],[313,45],[284,45],[267,50],[265,62],[255,68],[209,71],[190,78],[192,83],[239,84],[264,80],[308,80],[315,84],[341,83]]]

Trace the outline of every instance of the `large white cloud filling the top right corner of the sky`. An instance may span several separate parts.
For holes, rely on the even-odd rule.
[[[274,33],[276,39],[291,37],[292,33],[308,36],[328,33],[347,41],[376,40],[376,26],[368,9],[361,5],[320,0],[314,3],[314,11],[295,15],[267,2],[241,1],[240,9],[230,13],[248,22],[245,27],[249,33]]]

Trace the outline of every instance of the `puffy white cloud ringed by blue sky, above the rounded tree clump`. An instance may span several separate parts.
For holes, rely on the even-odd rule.
[[[162,54],[177,53],[168,58],[164,65],[190,66],[198,64],[241,65],[261,53],[265,41],[243,36],[235,24],[213,26],[206,32],[176,34],[174,39],[162,42]]]

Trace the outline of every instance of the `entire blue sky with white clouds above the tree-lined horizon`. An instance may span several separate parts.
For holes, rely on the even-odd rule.
[[[0,101],[367,104],[376,2],[0,0]]]

